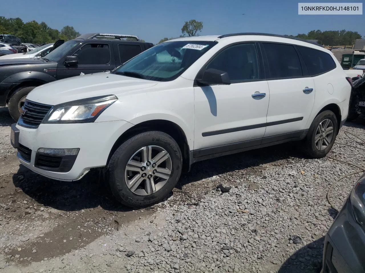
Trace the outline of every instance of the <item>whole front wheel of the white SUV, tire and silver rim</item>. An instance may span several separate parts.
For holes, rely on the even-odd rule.
[[[107,177],[120,203],[145,207],[171,193],[182,164],[180,148],[170,135],[147,131],[120,145],[110,159]]]

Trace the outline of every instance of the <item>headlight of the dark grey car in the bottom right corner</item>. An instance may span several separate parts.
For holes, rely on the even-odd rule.
[[[356,221],[365,226],[365,173],[352,189],[350,200]]]

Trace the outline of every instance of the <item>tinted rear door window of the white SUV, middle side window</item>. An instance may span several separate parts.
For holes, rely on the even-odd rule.
[[[303,76],[299,56],[288,44],[263,43],[268,58],[270,76],[267,79]]]

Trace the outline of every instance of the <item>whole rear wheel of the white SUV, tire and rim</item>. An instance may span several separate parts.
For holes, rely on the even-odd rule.
[[[313,120],[305,141],[305,151],[312,158],[322,158],[331,150],[337,136],[334,112],[323,111]]]

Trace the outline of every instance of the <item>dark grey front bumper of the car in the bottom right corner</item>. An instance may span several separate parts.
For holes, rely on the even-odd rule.
[[[365,272],[365,231],[347,199],[324,240],[323,273]]]

